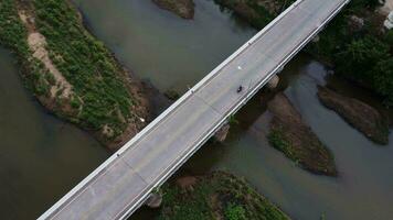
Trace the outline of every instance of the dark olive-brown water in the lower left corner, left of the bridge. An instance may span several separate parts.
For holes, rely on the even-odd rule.
[[[73,125],[46,114],[0,48],[0,219],[33,219],[108,153]]]

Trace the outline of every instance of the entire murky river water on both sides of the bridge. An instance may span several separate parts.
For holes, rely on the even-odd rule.
[[[161,91],[185,91],[256,33],[209,0],[195,1],[193,21],[151,1],[75,1],[91,31]],[[9,140],[0,143],[0,187],[6,198],[0,201],[1,217],[25,219],[49,208],[108,154],[84,132],[43,113],[22,88],[12,57],[0,52],[0,135]],[[327,68],[304,54],[282,73],[288,84],[285,94],[334,154],[338,178],[305,172],[268,145],[264,134],[270,116],[262,94],[238,112],[240,123],[224,143],[203,146],[180,173],[225,169],[243,176],[295,219],[393,219],[393,135],[389,146],[379,146],[322,107],[316,85],[326,84],[326,76]],[[367,91],[340,79],[329,77],[329,81],[348,95],[372,100]],[[17,208],[30,211],[10,213]],[[142,209],[131,219],[153,216]]]

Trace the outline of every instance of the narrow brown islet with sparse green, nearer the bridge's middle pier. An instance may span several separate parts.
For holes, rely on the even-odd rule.
[[[267,109],[273,114],[267,134],[272,146],[311,173],[337,176],[331,152],[302,121],[285,95],[277,94]]]

